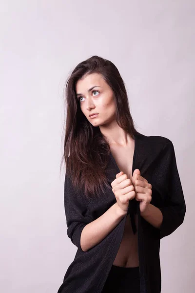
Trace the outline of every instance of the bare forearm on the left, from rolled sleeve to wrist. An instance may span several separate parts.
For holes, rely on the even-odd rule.
[[[126,215],[115,203],[98,219],[86,225],[80,236],[82,251],[88,251],[101,242]]]

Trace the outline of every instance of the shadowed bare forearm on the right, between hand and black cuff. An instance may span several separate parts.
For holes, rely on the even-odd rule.
[[[160,228],[163,219],[162,212],[154,205],[149,204],[144,212],[140,212],[140,215],[155,228]]]

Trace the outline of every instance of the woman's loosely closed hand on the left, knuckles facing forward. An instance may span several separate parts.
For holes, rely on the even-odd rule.
[[[136,196],[134,186],[131,179],[122,171],[116,175],[116,179],[111,183],[113,193],[117,199],[117,205],[122,212],[127,213],[129,208],[129,200]]]

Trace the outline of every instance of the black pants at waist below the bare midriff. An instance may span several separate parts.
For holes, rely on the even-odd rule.
[[[139,267],[112,265],[101,293],[140,293]]]

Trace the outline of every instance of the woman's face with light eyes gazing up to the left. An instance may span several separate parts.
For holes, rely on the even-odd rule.
[[[78,80],[76,93],[81,111],[93,126],[110,124],[115,119],[113,91],[100,74],[92,73]],[[94,113],[98,115],[89,116]]]

